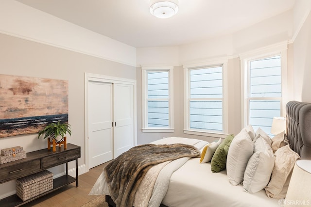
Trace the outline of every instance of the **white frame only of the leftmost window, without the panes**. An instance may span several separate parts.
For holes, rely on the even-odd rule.
[[[142,66],[142,132],[174,132],[173,66]],[[148,127],[148,72],[169,72],[169,127]]]

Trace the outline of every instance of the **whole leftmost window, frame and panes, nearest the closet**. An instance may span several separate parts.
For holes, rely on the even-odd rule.
[[[173,67],[143,67],[143,131],[173,132]]]

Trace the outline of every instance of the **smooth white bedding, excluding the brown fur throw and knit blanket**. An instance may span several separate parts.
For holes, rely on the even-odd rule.
[[[153,143],[170,144],[176,143],[176,140],[193,145],[200,142],[200,140],[173,137],[161,139]],[[278,205],[278,199],[268,198],[264,190],[254,194],[244,192],[242,185],[232,186],[229,183],[226,171],[212,173],[210,162],[199,162],[200,158],[191,158],[178,170],[173,172],[162,204],[168,207],[280,206]],[[166,165],[162,170],[165,170],[169,166],[169,164]],[[109,195],[104,174],[98,178],[90,194]],[[153,196],[151,196],[152,199]]]

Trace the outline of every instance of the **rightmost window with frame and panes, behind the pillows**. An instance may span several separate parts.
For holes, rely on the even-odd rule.
[[[273,117],[283,116],[286,50],[243,61],[245,125],[255,131],[260,127],[271,136]]]

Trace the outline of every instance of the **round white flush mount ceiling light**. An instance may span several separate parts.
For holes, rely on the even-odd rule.
[[[151,0],[150,13],[158,18],[169,18],[178,12],[178,0]]]

